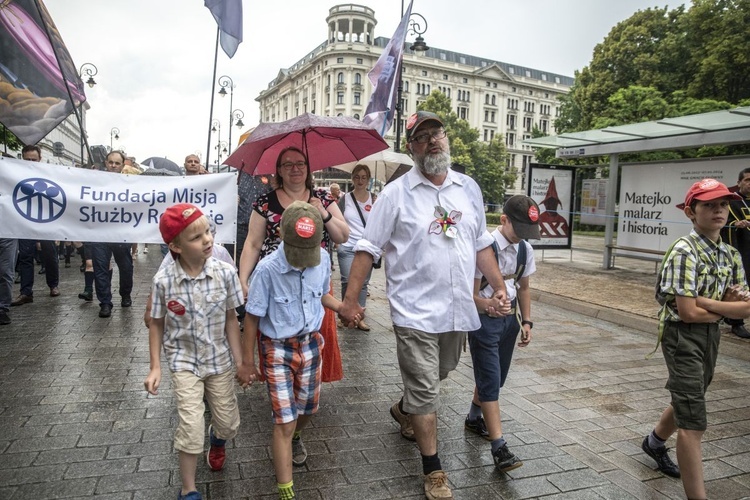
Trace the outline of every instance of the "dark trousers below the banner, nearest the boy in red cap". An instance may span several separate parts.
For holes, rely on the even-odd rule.
[[[115,257],[120,271],[120,297],[130,297],[133,291],[133,256],[130,243],[86,243],[91,245],[94,261],[94,285],[100,304],[112,305],[112,273],[109,261]]]

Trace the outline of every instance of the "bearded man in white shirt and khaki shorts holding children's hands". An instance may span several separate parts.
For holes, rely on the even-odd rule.
[[[440,117],[427,111],[406,123],[415,168],[388,184],[373,205],[357,242],[340,311],[347,322],[373,259],[385,259],[387,293],[404,394],[391,408],[401,434],[422,454],[425,495],[453,498],[437,454],[440,381],[456,368],[468,330],[479,328],[472,300],[474,272],[496,290],[488,308],[505,305],[505,282],[487,232],[484,202],[471,178],[450,170],[448,138]]]

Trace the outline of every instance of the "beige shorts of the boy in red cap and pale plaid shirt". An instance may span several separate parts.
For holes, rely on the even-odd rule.
[[[211,408],[211,425],[219,439],[232,439],[240,426],[240,412],[234,393],[234,372],[200,379],[188,371],[172,372],[172,386],[177,396],[180,423],[174,434],[174,447],[193,455],[203,453],[206,427],[203,420],[205,394]]]

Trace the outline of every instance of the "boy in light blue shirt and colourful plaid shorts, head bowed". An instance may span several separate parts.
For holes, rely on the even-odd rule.
[[[323,219],[308,203],[295,201],[281,218],[282,243],[258,263],[245,305],[243,387],[261,376],[255,366],[260,330],[260,368],[273,408],[273,464],[282,500],[295,498],[292,464],[302,466],[307,450],[302,428],[318,411],[323,306],[336,312],[341,302],[329,293],[331,262],[321,248]]]

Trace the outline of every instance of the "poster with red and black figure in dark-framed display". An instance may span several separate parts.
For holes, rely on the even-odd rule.
[[[530,165],[528,195],[539,205],[540,240],[534,248],[570,248],[573,238],[575,169],[559,165]]]

